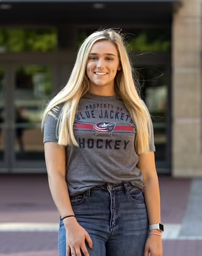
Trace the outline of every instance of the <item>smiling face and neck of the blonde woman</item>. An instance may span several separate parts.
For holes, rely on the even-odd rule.
[[[114,77],[119,68],[121,66],[116,46],[108,40],[94,43],[86,67],[90,90],[99,92],[101,89],[112,92]]]

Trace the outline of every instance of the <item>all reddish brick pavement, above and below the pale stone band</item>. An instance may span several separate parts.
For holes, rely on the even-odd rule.
[[[191,179],[159,177],[163,223],[183,224]],[[57,223],[47,176],[1,175],[0,223]],[[57,231],[57,230],[56,230]],[[0,232],[0,256],[57,256],[57,232]],[[202,240],[163,239],[164,256],[199,256]]]

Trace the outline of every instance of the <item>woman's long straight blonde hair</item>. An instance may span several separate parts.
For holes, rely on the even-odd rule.
[[[50,100],[44,110],[41,130],[43,131],[47,115],[54,118],[53,111],[57,111],[58,105],[64,103],[58,117],[56,134],[58,144],[64,146],[79,146],[73,132],[74,118],[80,98],[89,90],[90,84],[86,74],[86,65],[93,44],[100,40],[109,40],[115,44],[119,54],[121,71],[117,72],[114,81],[115,93],[122,98],[136,126],[135,151],[137,154],[149,151],[149,113],[143,101],[138,95],[137,74],[132,65],[124,46],[124,40],[119,32],[112,29],[96,31],[87,37],[80,45],[74,68],[71,72],[67,85]],[[59,109],[59,108],[58,108]]]

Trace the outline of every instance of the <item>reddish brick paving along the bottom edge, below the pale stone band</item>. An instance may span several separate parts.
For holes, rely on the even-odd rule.
[[[22,240],[26,243],[22,243]],[[12,235],[0,233],[0,241],[6,243],[2,248],[1,242],[0,256],[58,256],[55,232],[49,234],[16,232]],[[163,256],[201,256],[201,251],[201,241],[163,241]]]

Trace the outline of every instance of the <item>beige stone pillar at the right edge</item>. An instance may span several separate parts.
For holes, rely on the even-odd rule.
[[[181,0],[172,27],[172,176],[202,177],[202,0]]]

